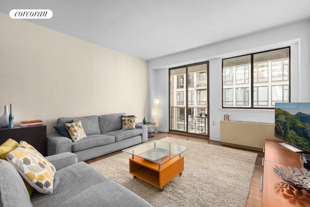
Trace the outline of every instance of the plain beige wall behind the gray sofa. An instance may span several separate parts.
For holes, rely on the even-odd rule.
[[[2,13],[0,25],[0,116],[12,103],[15,125],[42,119],[47,133],[61,116],[147,116],[147,62]]]

